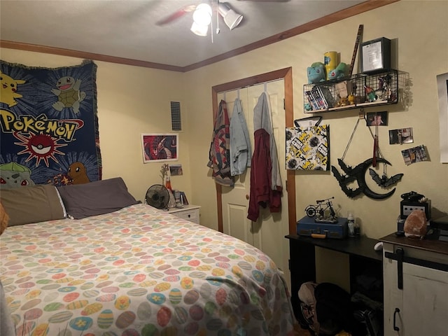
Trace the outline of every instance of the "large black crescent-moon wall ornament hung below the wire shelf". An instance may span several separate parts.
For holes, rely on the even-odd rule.
[[[391,165],[391,163],[384,158],[376,158],[376,161],[382,162],[383,164],[386,165]],[[335,178],[337,179],[337,181],[339,182],[339,186],[342,188],[342,191],[345,193],[345,195],[347,195],[350,198],[353,198],[363,193],[367,197],[373,198],[375,200],[383,200],[387,197],[391,197],[393,193],[395,193],[395,188],[393,188],[393,190],[389,191],[388,193],[379,194],[370,190],[370,188],[367,186],[367,183],[365,183],[365,173],[367,172],[367,169],[369,169],[369,167],[372,166],[372,162],[373,159],[369,158],[364,162],[361,162],[356,167],[352,168],[350,166],[347,166],[342,159],[337,159],[339,167],[341,167],[342,171],[345,174],[339,174],[337,168],[335,166],[331,166],[331,171],[335,176]],[[358,188],[356,189],[349,188],[348,186],[349,183],[352,183],[354,181],[358,183]],[[395,181],[395,183],[398,181]]]

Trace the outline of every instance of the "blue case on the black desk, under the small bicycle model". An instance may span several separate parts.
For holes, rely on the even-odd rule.
[[[314,217],[304,216],[297,222],[297,235],[311,237],[312,234],[325,235],[326,238],[344,239],[347,237],[347,218],[337,218],[337,223],[316,223]]]

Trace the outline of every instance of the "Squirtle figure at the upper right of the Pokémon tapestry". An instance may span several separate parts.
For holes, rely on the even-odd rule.
[[[80,91],[81,80],[75,80],[71,76],[59,78],[56,83],[57,89],[51,89],[51,92],[57,96],[57,102],[53,104],[53,108],[57,111],[70,108],[74,113],[79,113],[79,105],[85,98],[85,92]]]

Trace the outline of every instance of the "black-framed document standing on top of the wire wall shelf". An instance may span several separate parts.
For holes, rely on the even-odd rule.
[[[391,69],[391,40],[385,37],[361,43],[362,73],[375,73]]]

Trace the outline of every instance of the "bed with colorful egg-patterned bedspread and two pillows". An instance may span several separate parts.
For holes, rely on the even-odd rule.
[[[38,187],[1,190],[17,335],[293,335],[286,282],[257,248],[137,202],[120,178]]]

